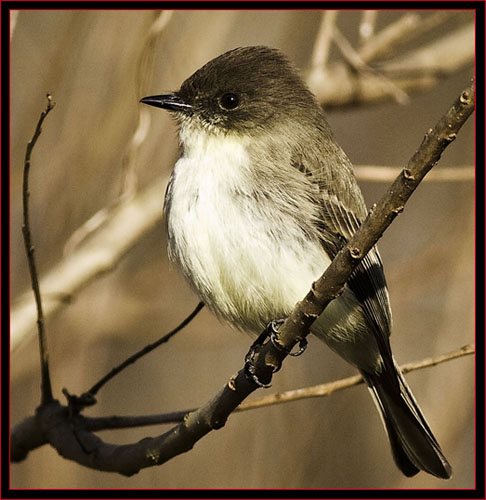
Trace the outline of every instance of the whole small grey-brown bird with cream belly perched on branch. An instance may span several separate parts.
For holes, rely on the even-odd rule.
[[[144,97],[173,112],[182,155],[165,195],[169,254],[204,303],[259,333],[287,316],[366,217],[351,162],[294,66],[276,49],[226,52],[180,90]],[[451,467],[389,343],[373,248],[311,332],[366,380],[406,476]]]

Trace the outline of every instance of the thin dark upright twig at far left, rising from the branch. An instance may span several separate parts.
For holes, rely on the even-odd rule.
[[[40,115],[37,127],[35,129],[32,139],[28,142],[25,150],[24,161],[24,178],[22,187],[22,201],[24,222],[22,225],[22,234],[24,235],[25,251],[27,252],[27,261],[29,263],[30,280],[32,283],[32,290],[34,291],[35,304],[37,309],[37,332],[39,339],[39,351],[41,358],[41,404],[47,404],[53,400],[51,378],[49,375],[49,354],[47,351],[47,339],[44,329],[44,314],[42,312],[42,300],[39,288],[39,279],[34,258],[34,245],[32,243],[32,234],[30,231],[30,218],[29,218],[29,173],[30,173],[30,157],[34,146],[42,132],[42,123],[46,116],[54,108],[56,103],[52,102],[52,96],[47,94],[47,107]]]

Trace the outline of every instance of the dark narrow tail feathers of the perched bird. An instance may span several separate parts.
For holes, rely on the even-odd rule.
[[[420,470],[449,479],[452,469],[432,434],[403,375],[384,369],[380,374],[363,372],[380,410],[390,440],[393,458],[406,476]],[[394,370],[395,371],[395,370]]]

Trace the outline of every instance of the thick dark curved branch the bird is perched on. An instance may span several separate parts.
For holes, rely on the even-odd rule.
[[[445,148],[474,109],[474,82],[454,102],[449,111],[430,129],[422,144],[395,180],[383,198],[373,206],[367,218],[336,255],[325,273],[312,285],[311,291],[294,307],[291,315],[279,328],[279,344],[288,352],[309,333],[309,327],[326,305],[339,295],[345,282],[366,253],[403,211],[404,205],[426,173],[437,163]],[[272,342],[258,347],[254,366],[258,379],[267,383],[272,373],[281,366],[287,352],[277,349]],[[62,456],[97,470],[132,475],[140,469],[160,465],[189,451],[194,444],[212,430],[224,426],[229,415],[257,385],[249,380],[245,368],[231,377],[228,383],[204,406],[185,415],[184,420],[168,432],[138,443],[116,446],[104,443],[90,432],[79,414],[71,414],[57,401],[39,407],[35,421],[43,439]],[[20,426],[32,422],[27,419]],[[12,436],[18,427],[12,431]],[[36,443],[39,442],[37,439]],[[21,459],[32,448],[29,443],[15,447],[12,439],[12,458]],[[20,457],[20,458],[19,458]]]

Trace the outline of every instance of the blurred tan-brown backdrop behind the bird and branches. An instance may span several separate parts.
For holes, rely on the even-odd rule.
[[[405,12],[380,12],[377,30]],[[429,13],[420,13],[425,16]],[[359,11],[337,25],[358,43]],[[474,19],[455,12],[415,46]],[[309,69],[321,25],[318,11],[21,11],[11,40],[11,307],[29,292],[21,237],[25,145],[51,92],[57,105],[33,155],[31,220],[41,275],[62,261],[73,232],[116,201],[124,166],[138,190],[170,172],[177,137],[167,113],[148,110],[148,133],[130,146],[145,95],[164,93],[231,48],[281,48]],[[154,28],[154,22],[159,23]],[[155,30],[155,31],[151,31]],[[153,36],[150,33],[155,33]],[[406,47],[405,47],[406,48]],[[154,56],[153,64],[151,55]],[[447,54],[444,54],[447,57]],[[331,61],[342,60],[334,46]],[[150,69],[153,66],[153,71]],[[472,62],[393,99],[333,107],[328,117],[355,164],[404,166],[474,72]],[[152,74],[151,74],[152,73]],[[148,117],[148,118],[147,118]],[[474,121],[465,125],[438,169],[474,164]],[[368,204],[387,182],[360,182]],[[130,184],[133,188],[133,183]],[[163,190],[160,192],[162,203]],[[435,356],[474,341],[474,181],[424,182],[380,241],[394,313],[392,347],[399,363]],[[62,287],[58,293],[62,293]],[[80,394],[112,366],[181,321],[196,305],[167,260],[159,221],[118,262],[47,320],[55,396]],[[34,328],[11,354],[11,422],[39,403]],[[13,334],[13,332],[12,332]],[[251,339],[208,312],[168,345],[127,369],[99,394],[88,415],[162,413],[207,401],[243,363]],[[311,339],[289,359],[270,391],[354,374]],[[13,488],[472,488],[474,487],[474,359],[469,356],[407,376],[454,469],[450,481],[395,467],[373,402],[363,386],[328,398],[232,415],[226,427],[157,468],[125,478],[83,468],[44,446],[11,469]],[[263,391],[257,391],[257,395]],[[100,436],[130,443],[157,426]]]

